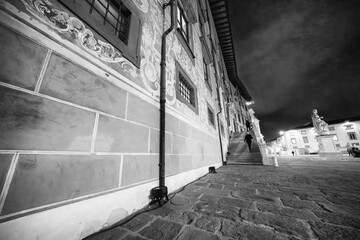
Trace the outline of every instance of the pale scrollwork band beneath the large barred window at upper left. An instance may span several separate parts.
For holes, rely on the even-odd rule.
[[[91,55],[109,63],[120,63],[130,75],[136,76],[136,68],[109,43],[97,40],[78,18],[52,8],[49,0],[21,0],[26,9],[60,34],[76,39],[80,46]]]

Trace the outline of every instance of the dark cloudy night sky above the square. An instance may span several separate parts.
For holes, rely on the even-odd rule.
[[[228,0],[238,75],[269,141],[360,115],[360,0]]]

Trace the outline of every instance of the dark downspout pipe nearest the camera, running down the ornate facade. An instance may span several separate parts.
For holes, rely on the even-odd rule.
[[[164,18],[165,9],[168,6],[171,6],[171,25],[161,38],[159,187],[153,188],[150,193],[152,202],[156,201],[160,205],[164,198],[168,200],[168,191],[165,186],[166,37],[175,28],[177,0],[170,0],[163,5]]]

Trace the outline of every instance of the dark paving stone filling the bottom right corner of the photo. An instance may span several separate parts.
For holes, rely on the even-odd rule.
[[[340,227],[322,222],[310,222],[310,225],[315,234],[319,237],[319,240],[357,240],[360,236],[360,231],[353,228]]]

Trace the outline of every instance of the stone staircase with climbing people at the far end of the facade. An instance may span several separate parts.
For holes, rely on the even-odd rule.
[[[251,152],[247,143],[244,142],[246,132],[234,133],[230,139],[228,154],[226,156],[227,164],[244,164],[244,165],[262,165],[262,156],[260,153],[259,146],[257,144],[255,134],[253,131],[250,132],[253,136],[251,143]]]

